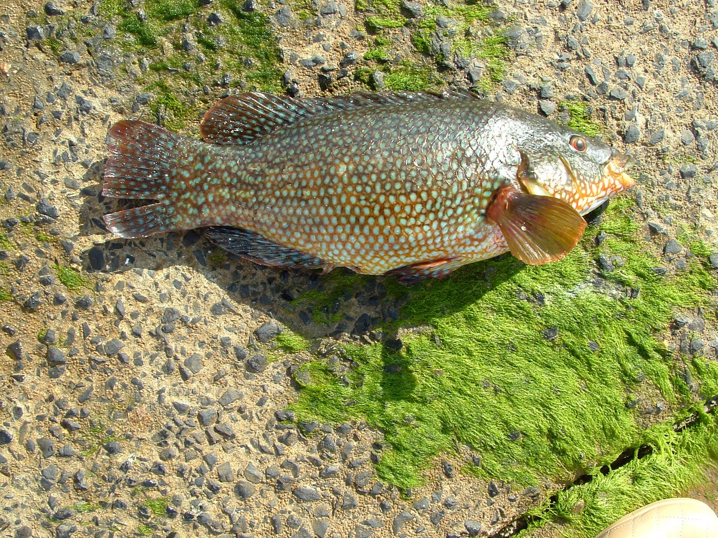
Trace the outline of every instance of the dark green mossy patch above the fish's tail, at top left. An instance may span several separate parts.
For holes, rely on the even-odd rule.
[[[159,123],[177,131],[195,120],[216,100],[202,88],[281,89],[279,47],[266,15],[243,11],[238,0],[216,1],[211,9],[197,0],[151,0],[142,7],[144,15],[125,0],[104,0],[98,11],[116,22],[121,47],[149,58],[139,82],[154,97]],[[208,21],[213,12],[218,24]]]

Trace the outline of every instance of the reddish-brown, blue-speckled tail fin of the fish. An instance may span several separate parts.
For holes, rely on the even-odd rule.
[[[198,142],[137,120],[115,123],[109,136],[103,196],[157,202],[106,214],[108,229],[129,238],[197,227],[196,215],[178,202],[187,180],[186,161]]]

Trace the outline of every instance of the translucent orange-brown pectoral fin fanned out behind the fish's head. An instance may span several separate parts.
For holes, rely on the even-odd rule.
[[[563,200],[502,187],[487,216],[501,229],[511,254],[528,265],[561,260],[581,239],[586,221]]]

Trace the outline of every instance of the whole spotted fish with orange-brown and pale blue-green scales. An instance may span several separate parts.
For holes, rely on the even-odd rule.
[[[261,265],[443,278],[510,252],[564,258],[582,215],[633,186],[633,159],[469,91],[218,101],[202,140],[122,120],[105,197],[154,201],[104,216],[120,237],[205,228]]]

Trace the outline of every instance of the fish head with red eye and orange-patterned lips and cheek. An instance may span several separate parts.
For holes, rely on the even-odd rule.
[[[551,125],[521,153],[518,181],[530,194],[564,200],[586,214],[633,187],[633,158],[596,138]]]

